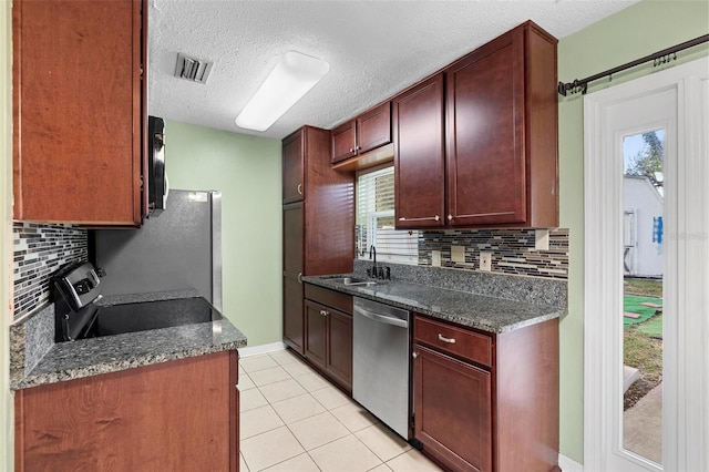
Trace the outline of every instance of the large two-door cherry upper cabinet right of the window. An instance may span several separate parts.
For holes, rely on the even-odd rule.
[[[398,228],[558,226],[556,42],[527,21],[393,99]]]

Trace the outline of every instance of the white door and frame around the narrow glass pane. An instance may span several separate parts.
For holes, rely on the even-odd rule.
[[[616,459],[648,462],[619,447],[620,346],[609,327],[623,312],[623,160],[604,136],[608,107],[662,90],[677,93],[677,158],[666,162],[664,470],[709,470],[709,58],[584,99],[584,469]],[[671,138],[671,137],[670,137]],[[615,158],[614,158],[615,156]],[[615,250],[617,247],[619,250]],[[668,319],[668,316],[665,317]]]

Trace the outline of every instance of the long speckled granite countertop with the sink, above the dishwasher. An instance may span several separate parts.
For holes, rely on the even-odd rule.
[[[410,281],[377,280],[377,285],[372,286],[345,285],[341,281],[342,277],[361,278],[359,274],[345,274],[310,276],[304,277],[302,280],[494,334],[512,331],[558,318],[564,314],[564,308],[556,306],[515,301]]]

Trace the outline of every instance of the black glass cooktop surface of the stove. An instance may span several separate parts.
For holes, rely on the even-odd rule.
[[[100,306],[76,339],[196,325],[218,319],[222,319],[222,314],[203,297]]]

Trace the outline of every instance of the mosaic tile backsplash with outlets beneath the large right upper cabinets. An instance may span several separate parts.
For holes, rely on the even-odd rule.
[[[419,233],[419,265],[479,270],[480,253],[492,253],[493,274],[568,278],[568,229],[549,229],[548,249],[535,249],[535,229],[461,229]],[[463,261],[464,260],[464,261]]]

